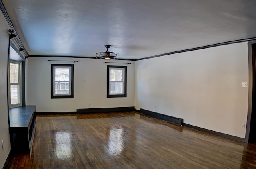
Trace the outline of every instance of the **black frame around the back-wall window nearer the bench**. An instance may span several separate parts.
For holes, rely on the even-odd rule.
[[[71,94],[70,95],[54,95],[54,67],[71,67]],[[51,98],[74,98],[74,64],[51,64]],[[59,86],[60,87],[60,86]]]

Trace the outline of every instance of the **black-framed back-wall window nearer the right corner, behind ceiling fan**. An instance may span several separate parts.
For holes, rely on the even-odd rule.
[[[107,97],[126,97],[126,66],[108,66]]]

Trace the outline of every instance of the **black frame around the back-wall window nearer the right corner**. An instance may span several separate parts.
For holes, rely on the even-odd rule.
[[[109,94],[109,85],[110,85],[110,77],[109,77],[109,70],[110,68],[122,68],[124,69],[124,94]],[[107,98],[114,98],[114,97],[127,97],[127,66],[112,66],[108,65],[107,67]]]

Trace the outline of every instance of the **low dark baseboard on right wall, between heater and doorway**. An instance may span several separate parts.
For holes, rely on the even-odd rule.
[[[189,127],[189,128],[193,128],[193,129],[199,130],[201,132],[206,132],[206,133],[209,133],[209,134],[214,134],[216,136],[220,136],[220,137],[224,137],[224,138],[229,138],[229,139],[236,140],[236,141],[245,142],[244,138],[232,136],[232,135],[229,135],[229,134],[224,134],[224,133],[216,132],[216,131],[213,131],[213,130],[208,130],[208,129],[205,129],[205,128],[200,128],[200,127],[193,126],[193,125],[186,124],[186,123],[183,123],[183,126],[186,126],[186,127]]]

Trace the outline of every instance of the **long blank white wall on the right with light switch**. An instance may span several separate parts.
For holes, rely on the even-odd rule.
[[[236,43],[136,61],[136,109],[245,138],[247,48],[247,43]]]

